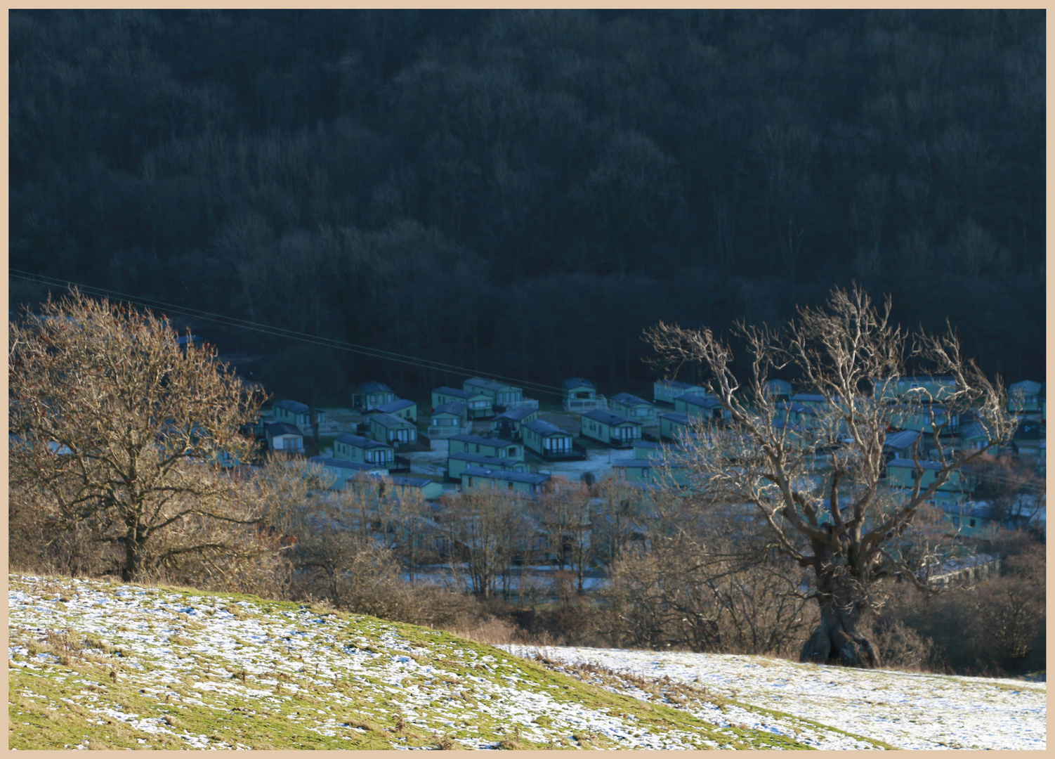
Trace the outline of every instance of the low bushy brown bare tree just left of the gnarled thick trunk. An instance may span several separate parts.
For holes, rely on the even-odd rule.
[[[647,545],[615,559],[602,590],[616,640],[726,653],[802,645],[816,616],[798,591],[806,570],[735,509],[671,486],[647,500]]]

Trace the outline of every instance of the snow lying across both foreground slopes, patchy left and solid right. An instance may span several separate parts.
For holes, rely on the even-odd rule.
[[[674,725],[642,729],[627,715],[555,699],[551,694],[557,694],[549,688],[556,686],[534,681],[517,664],[519,660],[506,662],[473,648],[434,643],[430,635],[439,633],[427,630],[421,631],[420,640],[410,639],[388,623],[351,623],[305,607],[269,610],[249,601],[232,604],[207,594],[12,575],[8,611],[12,687],[16,672],[57,677],[66,687],[81,684],[83,688],[75,686],[69,698],[47,708],[64,708],[58,701],[76,704],[95,715],[96,724],[122,722],[148,745],[152,737],[168,736],[187,747],[238,746],[235,738],[241,736],[223,740],[171,727],[162,713],[150,706],[161,707],[170,699],[172,708],[178,704],[178,708],[223,713],[251,703],[253,709],[270,710],[338,741],[348,740],[348,730],[358,729],[349,727],[343,716],[349,708],[364,719],[389,723],[383,699],[398,701],[407,723],[419,732],[460,730],[456,742],[466,747],[494,744],[493,737],[485,739],[484,730],[476,727],[488,721],[516,724],[524,739],[542,743],[573,732],[588,732],[618,747],[640,748],[720,745],[733,738],[732,733],[714,733],[705,740]],[[135,709],[111,703],[106,697],[108,667],[100,670],[98,682],[90,682],[84,678],[94,676],[60,671],[54,654],[34,653],[28,647],[27,642],[39,639],[42,630],[62,629],[119,647],[122,683],[128,681],[150,703]],[[428,637],[424,648],[422,635]],[[845,669],[764,657],[501,648],[558,669],[562,664],[593,663],[621,672],[627,679],[598,681],[581,669],[567,668],[580,679],[642,700],[682,703],[682,708],[718,730],[752,728],[818,748],[866,748],[872,745],[869,741],[898,748],[1047,747],[1043,683]],[[365,688],[366,710],[361,708],[364,702],[356,700],[362,696],[329,689],[338,678]],[[20,696],[34,698],[26,696],[33,678],[17,682]],[[692,686],[696,697],[675,699],[671,683]],[[325,708],[313,715],[290,713],[303,708],[290,701],[292,694],[319,687],[328,691],[327,702],[320,704]],[[471,694],[471,699],[461,699],[462,692]],[[378,701],[369,694],[377,694]],[[710,740],[714,737],[717,742]],[[399,745],[392,739],[392,745]]]

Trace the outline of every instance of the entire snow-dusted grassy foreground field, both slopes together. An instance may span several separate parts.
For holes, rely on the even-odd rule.
[[[8,744],[19,748],[1047,746],[1042,683],[501,650],[299,604],[8,582]]]

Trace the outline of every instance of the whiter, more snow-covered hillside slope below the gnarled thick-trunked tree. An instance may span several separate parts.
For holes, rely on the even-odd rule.
[[[1043,682],[728,653],[500,646],[586,682],[825,749],[1047,748]],[[849,733],[841,733],[839,725]],[[865,738],[862,738],[864,736]]]

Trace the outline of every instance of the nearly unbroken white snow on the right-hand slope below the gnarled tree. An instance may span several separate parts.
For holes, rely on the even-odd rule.
[[[667,677],[898,748],[1047,747],[1046,683],[849,669],[765,657],[500,647],[525,658],[595,663],[652,681]],[[708,719],[705,714],[697,716]],[[767,722],[763,715],[750,710],[735,719],[752,727],[765,727]]]

